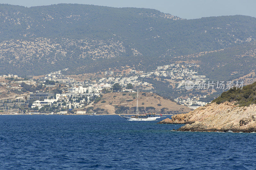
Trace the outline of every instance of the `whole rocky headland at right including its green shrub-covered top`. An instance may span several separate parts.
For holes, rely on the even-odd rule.
[[[231,89],[211,104],[158,123],[186,124],[179,131],[256,132],[255,90],[256,83]]]

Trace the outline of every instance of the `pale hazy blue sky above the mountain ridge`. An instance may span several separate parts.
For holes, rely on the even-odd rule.
[[[111,7],[153,8],[187,19],[237,14],[256,17],[256,0],[0,0],[0,3],[27,7],[77,3]]]

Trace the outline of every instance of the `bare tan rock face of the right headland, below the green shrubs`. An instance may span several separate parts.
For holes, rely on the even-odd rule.
[[[238,107],[230,102],[211,103],[158,123],[186,124],[180,131],[256,132],[256,105]]]

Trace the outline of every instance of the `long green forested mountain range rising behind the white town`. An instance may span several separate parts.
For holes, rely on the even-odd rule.
[[[68,67],[77,74],[125,65],[147,71],[193,55],[210,78],[238,78],[250,71],[233,74],[239,63],[255,62],[255,54],[244,53],[255,49],[255,25],[256,18],[241,15],[187,20],[145,8],[0,4],[0,73]],[[222,70],[226,77],[218,75]]]

